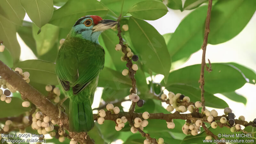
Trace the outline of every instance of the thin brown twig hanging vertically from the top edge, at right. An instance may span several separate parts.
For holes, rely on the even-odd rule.
[[[211,10],[212,10],[212,0],[209,0],[207,17],[206,17],[206,21],[205,21],[204,42],[201,47],[203,49],[203,54],[202,54],[201,73],[200,73],[200,80],[199,80],[200,88],[201,88],[201,102],[202,102],[203,110],[205,110],[205,105],[204,105],[204,67],[206,66],[205,53],[206,53],[206,46],[207,46],[207,41],[208,41],[208,34],[210,33]],[[211,67],[211,63],[210,63],[210,67]]]

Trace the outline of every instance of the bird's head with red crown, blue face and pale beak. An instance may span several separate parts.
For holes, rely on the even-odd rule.
[[[72,35],[83,39],[99,43],[100,33],[106,29],[112,28],[117,24],[115,20],[102,20],[97,15],[87,15],[76,21],[72,27]]]

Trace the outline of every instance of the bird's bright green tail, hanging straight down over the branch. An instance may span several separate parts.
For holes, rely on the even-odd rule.
[[[75,132],[88,132],[94,126],[92,107],[90,101],[69,102],[69,129]]]

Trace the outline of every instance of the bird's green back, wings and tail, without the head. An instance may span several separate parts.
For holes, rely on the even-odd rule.
[[[71,35],[59,50],[56,74],[70,98],[70,130],[88,132],[94,126],[91,105],[100,70],[104,67],[104,50],[99,44]]]

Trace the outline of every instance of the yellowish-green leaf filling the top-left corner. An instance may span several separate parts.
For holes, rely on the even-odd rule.
[[[20,4],[20,0],[0,0],[0,4],[0,14],[13,24],[22,25],[25,11]]]

